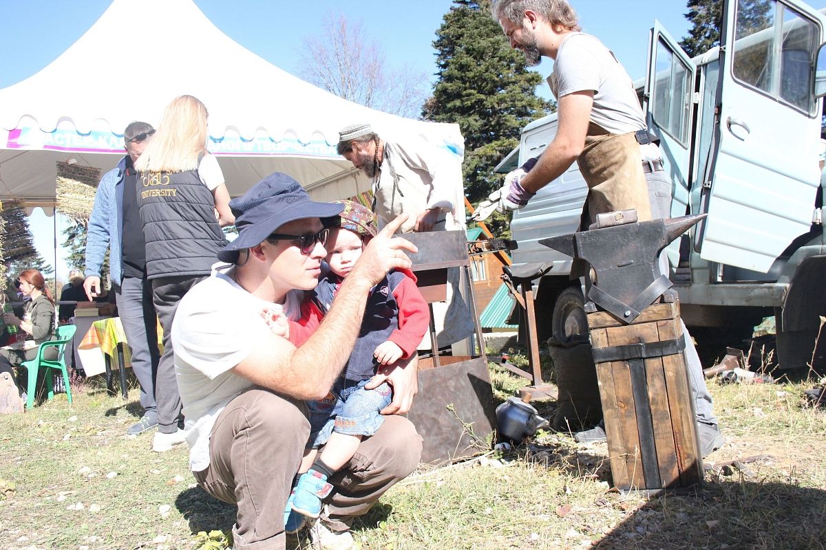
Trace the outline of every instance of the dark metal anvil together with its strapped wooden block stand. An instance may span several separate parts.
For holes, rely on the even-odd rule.
[[[611,214],[604,218],[634,219]],[[611,472],[621,491],[702,479],[679,299],[658,256],[704,217],[620,223],[539,241],[593,268],[586,313]]]

